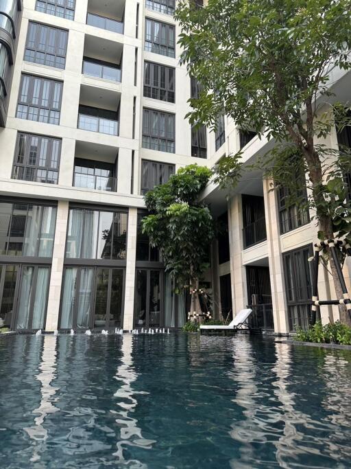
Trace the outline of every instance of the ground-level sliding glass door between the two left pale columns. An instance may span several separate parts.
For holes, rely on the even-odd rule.
[[[123,268],[66,267],[60,328],[121,327],[123,284]]]

